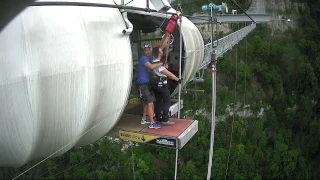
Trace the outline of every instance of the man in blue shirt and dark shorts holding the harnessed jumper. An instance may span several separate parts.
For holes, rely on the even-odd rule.
[[[166,33],[163,39],[156,45],[158,48],[164,49],[168,42],[170,34]],[[161,125],[153,120],[154,115],[154,105],[153,105],[153,92],[150,86],[150,77],[148,69],[153,70],[157,67],[160,67],[162,64],[151,64],[150,55],[152,57],[152,47],[149,45],[143,45],[142,47],[142,56],[139,59],[138,69],[137,69],[137,85],[139,89],[139,96],[143,101],[143,114],[141,124],[149,123],[146,121],[146,116],[148,114],[150,119],[149,128],[159,129]]]

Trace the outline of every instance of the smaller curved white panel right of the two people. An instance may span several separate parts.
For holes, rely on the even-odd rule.
[[[185,48],[184,70],[182,73],[182,87],[190,82],[199,70],[203,61],[204,43],[198,28],[187,18],[182,18],[181,26],[182,38]],[[172,96],[179,92],[178,87]]]

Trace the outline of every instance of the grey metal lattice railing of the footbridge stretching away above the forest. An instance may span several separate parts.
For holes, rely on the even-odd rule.
[[[252,30],[256,28],[256,24],[252,23],[228,36],[225,36],[217,41],[213,42],[213,45],[216,47],[216,52],[219,57],[222,57],[224,53],[228,50],[232,49],[234,45],[236,45],[239,41],[241,41],[245,36],[247,36]],[[204,46],[204,57],[201,68],[206,67],[211,62],[211,52],[213,48],[211,43],[208,43]]]

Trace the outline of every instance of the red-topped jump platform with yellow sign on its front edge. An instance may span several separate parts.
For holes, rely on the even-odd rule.
[[[138,109],[136,106],[132,107]],[[124,113],[113,128],[113,133],[109,135],[139,143],[180,149],[198,131],[196,120],[170,118],[170,121],[175,122],[174,125],[168,126],[160,123],[162,126],[160,129],[150,129],[148,128],[150,124],[140,124],[141,118],[141,114]]]

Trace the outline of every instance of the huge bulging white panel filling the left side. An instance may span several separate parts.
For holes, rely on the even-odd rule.
[[[132,79],[124,28],[114,8],[35,6],[1,31],[0,166],[68,145],[59,155],[112,129]]]

